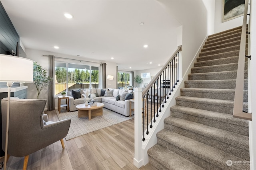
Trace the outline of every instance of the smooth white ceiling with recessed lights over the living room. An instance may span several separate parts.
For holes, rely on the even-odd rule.
[[[114,62],[127,70],[156,68],[176,49],[180,23],[156,0],[1,2],[26,49]]]

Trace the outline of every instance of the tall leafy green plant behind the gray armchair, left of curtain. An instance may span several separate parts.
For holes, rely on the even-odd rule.
[[[36,85],[37,98],[38,98],[44,86],[50,85],[52,78],[50,78],[50,76],[47,76],[47,71],[45,68],[40,66],[40,64],[37,64],[36,62],[34,62],[33,80],[34,80],[34,84]]]

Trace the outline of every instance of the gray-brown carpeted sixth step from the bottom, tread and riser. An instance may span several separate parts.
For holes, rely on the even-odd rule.
[[[181,88],[180,95],[197,98],[234,100],[235,90],[215,88]],[[248,102],[248,90],[244,90],[244,102]]]

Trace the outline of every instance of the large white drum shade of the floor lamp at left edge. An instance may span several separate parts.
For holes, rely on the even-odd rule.
[[[30,59],[0,54],[0,82],[33,82]]]

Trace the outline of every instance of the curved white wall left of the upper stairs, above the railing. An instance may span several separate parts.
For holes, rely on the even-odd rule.
[[[208,34],[207,10],[199,0],[160,1],[182,25],[182,73]],[[177,47],[176,47],[177,48]]]

